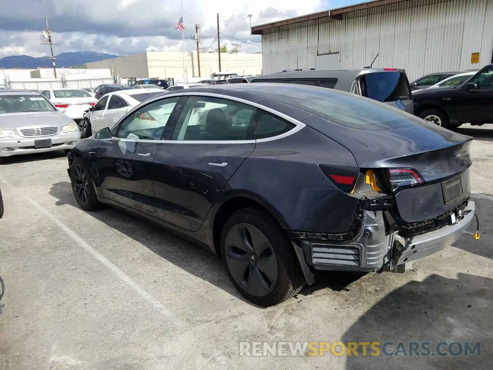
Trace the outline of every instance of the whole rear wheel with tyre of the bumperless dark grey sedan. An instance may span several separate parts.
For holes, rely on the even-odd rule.
[[[291,241],[261,210],[245,208],[229,218],[222,230],[221,254],[233,285],[260,306],[279,304],[305,284]]]

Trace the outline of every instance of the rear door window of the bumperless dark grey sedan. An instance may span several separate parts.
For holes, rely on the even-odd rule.
[[[173,140],[244,140],[256,108],[232,100],[190,96]]]

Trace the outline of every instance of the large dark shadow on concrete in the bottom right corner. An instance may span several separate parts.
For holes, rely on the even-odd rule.
[[[380,283],[385,284],[375,282]],[[357,297],[350,299],[357,304]],[[459,273],[457,279],[449,279],[432,274],[424,281],[411,281],[373,305],[341,338],[343,343],[377,341],[381,346],[392,342],[385,346],[387,356],[371,355],[376,352],[369,344],[367,356],[361,356],[361,345],[359,356],[354,353],[346,356],[346,369],[492,369],[492,303],[493,279],[488,277]],[[418,342],[419,350],[412,357],[403,356],[406,352],[401,349],[405,348],[409,354],[410,341]],[[423,356],[426,355],[421,347],[423,341],[430,342],[427,356]],[[450,351],[448,344],[440,346],[440,352],[436,351],[441,341],[460,342],[462,350],[466,341],[471,348],[480,342],[480,356],[464,356],[463,352],[459,353],[458,345],[452,348],[457,357],[439,356]],[[399,342],[404,342],[405,347]],[[395,352],[401,354],[396,357]]]

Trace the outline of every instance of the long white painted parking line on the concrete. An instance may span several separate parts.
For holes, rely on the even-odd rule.
[[[2,184],[11,187],[5,181],[3,180],[0,181]],[[152,304],[152,306],[154,306],[154,308],[156,308],[163,316],[165,316],[166,319],[169,320],[175,327],[181,326],[181,321],[172,312],[166,309],[163,303],[159,302],[153,296],[151,296],[145,289],[143,289],[139,284],[133,281],[127,274],[125,274],[122,270],[116,267],[109,259],[107,259],[101,253],[96,251],[93,247],[91,247],[77,233],[72,231],[69,227],[67,227],[63,222],[58,220],[55,216],[53,216],[48,210],[46,210],[35,200],[29,197],[24,197],[24,199],[26,199],[29,203],[35,206],[41,213],[47,216],[52,222],[54,222],[63,232],[65,232],[73,241],[75,241],[79,246],[81,246],[86,252],[91,254],[95,259],[99,260],[101,263],[103,263],[111,272],[113,272],[125,284],[127,284],[127,286],[135,290],[142,298],[144,298],[150,304]]]

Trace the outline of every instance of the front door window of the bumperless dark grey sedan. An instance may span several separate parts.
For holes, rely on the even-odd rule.
[[[116,135],[123,139],[161,140],[179,97],[150,103],[123,120]]]

